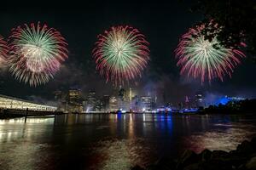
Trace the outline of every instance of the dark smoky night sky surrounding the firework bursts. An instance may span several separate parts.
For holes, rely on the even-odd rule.
[[[2,4],[0,34],[3,37],[9,37],[10,30],[16,26],[41,21],[61,31],[68,42],[69,58],[55,75],[55,79],[38,88],[15,81],[8,72],[2,72],[0,93],[20,98],[40,96],[52,99],[56,89],[80,88],[86,94],[94,88],[98,95],[111,94],[113,86],[95,71],[91,50],[98,34],[111,26],[129,25],[141,31],[150,42],[150,62],[143,77],[126,85],[137,89],[138,94],[155,91],[161,98],[165,93],[171,102],[177,102],[184,99],[185,95],[194,95],[199,91],[244,97],[256,95],[256,65],[247,59],[242,60],[242,65],[236,68],[232,79],[225,77],[224,82],[216,80],[211,85],[207,82],[201,85],[200,80],[179,76],[173,51],[179,37],[202,19],[201,14],[189,12],[191,1],[92,2],[94,3],[38,1]]]

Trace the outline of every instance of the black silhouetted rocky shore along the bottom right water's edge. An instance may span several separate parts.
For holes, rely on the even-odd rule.
[[[185,150],[177,159],[162,157],[148,167],[131,170],[256,170],[256,137],[243,141],[236,150],[203,150],[196,154]]]

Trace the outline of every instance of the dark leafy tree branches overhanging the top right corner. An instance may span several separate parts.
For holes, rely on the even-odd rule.
[[[197,0],[191,8],[193,12],[204,14],[205,38],[209,41],[217,37],[227,48],[241,48],[247,44],[247,52],[256,62],[256,1],[255,0]],[[212,24],[218,24],[216,31]]]

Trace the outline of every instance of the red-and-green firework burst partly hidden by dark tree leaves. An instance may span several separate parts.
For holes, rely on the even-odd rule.
[[[183,35],[176,49],[177,65],[181,66],[181,74],[187,73],[191,77],[201,77],[201,82],[218,77],[223,81],[225,75],[231,77],[236,65],[245,57],[239,49],[224,48],[217,37],[208,41],[201,31],[205,25],[189,29]],[[245,45],[241,43],[241,45]]]

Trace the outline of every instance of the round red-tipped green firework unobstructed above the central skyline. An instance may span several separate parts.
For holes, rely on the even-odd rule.
[[[137,76],[148,64],[148,42],[131,26],[113,26],[98,36],[93,56],[96,69],[107,82],[124,83]]]

